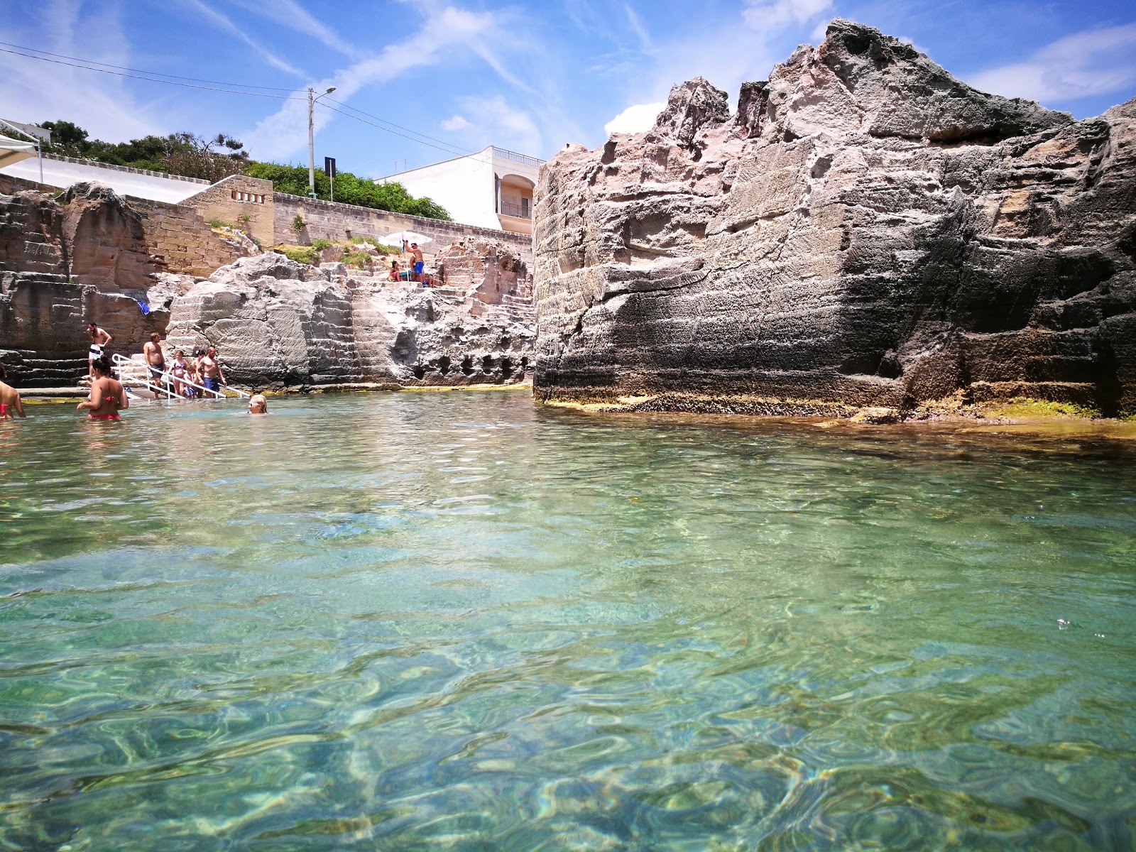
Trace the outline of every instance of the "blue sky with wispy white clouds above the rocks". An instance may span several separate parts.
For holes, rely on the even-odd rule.
[[[259,90],[270,94],[335,85],[336,100],[431,137],[319,109],[317,160],[334,156],[341,169],[371,176],[490,143],[545,158],[566,142],[594,147],[617,116],[612,126],[650,123],[650,105],[700,74],[734,99],[796,44],[818,42],[836,16],[911,41],[972,85],[1077,117],[1136,95],[1131,0],[2,2],[2,42],[278,89]],[[259,159],[307,162],[302,100],[164,85],[10,52],[0,52],[0,117],[67,118],[109,141],[224,132]]]

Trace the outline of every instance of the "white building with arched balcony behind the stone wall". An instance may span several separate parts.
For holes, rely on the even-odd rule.
[[[490,145],[484,151],[381,178],[446,209],[454,222],[533,233],[533,187],[544,160]]]

